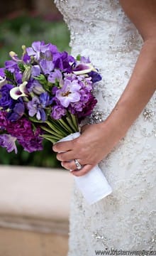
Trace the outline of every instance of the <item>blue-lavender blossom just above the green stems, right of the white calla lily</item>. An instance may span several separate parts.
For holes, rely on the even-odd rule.
[[[45,122],[47,119],[45,114],[45,107],[48,107],[52,103],[52,99],[48,92],[41,93],[40,97],[33,97],[33,99],[28,102],[28,114],[30,117],[34,117],[36,114],[36,118],[38,120],[42,120]]]

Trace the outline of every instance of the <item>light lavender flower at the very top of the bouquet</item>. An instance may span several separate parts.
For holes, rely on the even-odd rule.
[[[45,44],[43,41],[36,41],[32,43],[32,47],[26,48],[26,51],[29,56],[33,55],[36,60],[40,59],[40,55],[42,53],[46,53],[46,51],[49,51],[52,53],[57,52],[57,47],[53,46],[51,43]]]

